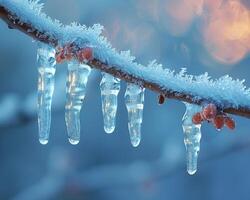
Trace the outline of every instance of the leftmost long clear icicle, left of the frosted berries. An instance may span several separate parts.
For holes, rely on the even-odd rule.
[[[38,43],[38,129],[39,141],[47,144],[51,123],[51,103],[54,92],[56,61],[55,49]]]

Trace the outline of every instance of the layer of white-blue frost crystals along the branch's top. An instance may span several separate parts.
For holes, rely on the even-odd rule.
[[[114,66],[116,69],[135,77],[160,85],[163,89],[192,94],[197,99],[207,99],[221,107],[250,107],[250,89],[244,80],[233,80],[228,75],[212,80],[207,73],[200,76],[186,74],[185,69],[174,72],[152,61],[148,66],[136,63],[130,52],[117,52],[101,35],[103,27],[95,24],[86,27],[77,23],[64,26],[42,13],[43,4],[39,1],[0,0],[0,5],[16,14],[23,22],[31,23],[34,28],[58,38],[61,44],[72,41],[81,47],[91,46],[97,59]],[[140,84],[140,83],[138,83]]]

